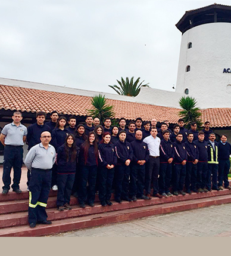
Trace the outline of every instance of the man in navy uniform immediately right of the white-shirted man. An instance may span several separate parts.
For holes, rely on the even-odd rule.
[[[160,177],[159,194],[167,197],[173,196],[170,193],[170,181],[172,174],[172,163],[174,159],[173,143],[169,140],[170,132],[163,131],[163,140],[160,143]]]

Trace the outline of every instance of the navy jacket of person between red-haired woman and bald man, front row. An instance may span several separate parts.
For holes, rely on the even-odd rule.
[[[133,158],[133,152],[131,144],[127,141],[122,142],[121,140],[118,140],[117,143],[115,143],[115,153],[117,155],[117,164],[123,165],[125,164],[127,159],[130,159],[132,161]]]

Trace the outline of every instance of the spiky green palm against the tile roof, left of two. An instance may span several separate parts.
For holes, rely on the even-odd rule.
[[[99,94],[92,97],[91,100],[93,109],[87,109],[89,115],[92,115],[93,118],[99,118],[99,120],[104,122],[105,118],[114,118],[115,113],[113,112],[113,106],[107,104],[107,99],[105,95]]]

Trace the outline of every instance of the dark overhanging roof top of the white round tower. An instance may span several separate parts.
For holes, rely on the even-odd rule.
[[[176,27],[183,34],[192,27],[216,22],[231,23],[231,6],[215,3],[206,7],[186,11],[176,24]]]

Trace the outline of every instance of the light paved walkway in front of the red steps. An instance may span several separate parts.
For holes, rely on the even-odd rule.
[[[231,236],[231,203],[81,229],[55,236]]]

